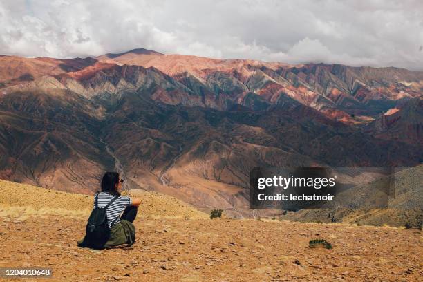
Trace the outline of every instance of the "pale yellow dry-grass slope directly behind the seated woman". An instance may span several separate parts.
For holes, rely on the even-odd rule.
[[[87,217],[93,197],[66,193],[0,180],[0,217],[22,221],[30,216]],[[131,191],[141,198],[138,211],[141,217],[153,218],[208,218],[208,215],[176,198],[154,192]]]

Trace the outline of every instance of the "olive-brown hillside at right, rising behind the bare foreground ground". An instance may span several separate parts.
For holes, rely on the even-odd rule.
[[[375,208],[376,200],[386,196],[379,181],[357,185],[337,195],[337,206],[330,209],[303,209],[288,212],[282,220],[304,222],[357,223],[363,225],[389,225],[419,227],[423,225],[423,164],[397,171],[394,175],[393,194],[386,206]],[[384,187],[384,186],[382,186]],[[379,193],[377,192],[379,191]],[[354,207],[354,208],[353,208]]]

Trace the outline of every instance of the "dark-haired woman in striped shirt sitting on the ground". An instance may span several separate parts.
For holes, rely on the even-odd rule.
[[[122,244],[132,245],[135,242],[135,226],[132,223],[137,216],[138,205],[140,205],[141,200],[129,196],[120,196],[123,181],[119,173],[106,172],[102,179],[102,191],[94,195],[93,209],[95,209],[96,200],[100,208],[104,208],[111,203],[106,209],[110,237],[104,245],[105,248]],[[118,198],[113,200],[115,196],[118,196]],[[86,236],[78,241],[79,247],[87,247],[88,245]]]

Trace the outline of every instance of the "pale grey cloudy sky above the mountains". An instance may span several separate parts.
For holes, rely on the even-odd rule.
[[[0,1],[0,54],[162,53],[423,70],[423,1]]]

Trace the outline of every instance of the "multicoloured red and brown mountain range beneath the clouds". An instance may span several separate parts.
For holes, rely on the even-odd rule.
[[[0,57],[0,178],[127,189],[200,208],[248,206],[254,167],[414,167],[423,72],[210,59],[134,49]]]

